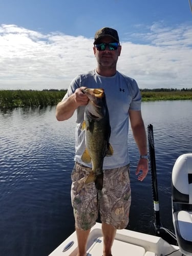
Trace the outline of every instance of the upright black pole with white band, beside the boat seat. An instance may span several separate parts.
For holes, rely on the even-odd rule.
[[[147,134],[148,134],[148,150],[149,150],[149,156],[150,156],[151,178],[152,178],[152,196],[153,196],[154,216],[155,216],[154,227],[155,227],[156,236],[163,238],[168,243],[175,242],[176,236],[173,233],[173,231],[167,228],[164,228],[160,221],[157,171],[156,171],[156,160],[155,160],[155,143],[154,143],[154,133],[153,133],[152,124],[148,124]]]

